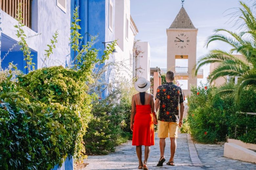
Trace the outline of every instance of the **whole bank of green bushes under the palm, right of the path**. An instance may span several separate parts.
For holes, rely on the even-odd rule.
[[[255,112],[255,90],[245,90],[240,102],[234,96],[212,96],[215,87],[201,85],[191,88],[188,97],[188,123],[194,140],[201,143],[225,141],[227,137],[256,142],[256,117],[241,112]],[[247,125],[247,134],[246,132]]]

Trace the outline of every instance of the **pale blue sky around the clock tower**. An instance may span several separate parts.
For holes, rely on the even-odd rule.
[[[139,30],[137,40],[149,42],[150,67],[166,68],[167,61],[167,35],[169,28],[176,15],[181,9],[181,0],[130,0],[131,16]],[[252,4],[252,0],[244,0]],[[238,0],[185,0],[183,6],[192,23],[198,28],[197,35],[197,59],[205,55],[211,49],[228,51],[230,46],[223,42],[211,42],[206,48],[207,37],[214,33],[214,29],[225,28],[236,31],[239,25],[230,19],[231,13],[237,11]],[[177,64],[176,64],[177,65]],[[203,79],[209,73],[209,65],[203,67]]]

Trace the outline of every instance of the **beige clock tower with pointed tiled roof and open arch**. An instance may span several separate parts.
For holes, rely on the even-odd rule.
[[[187,81],[187,87],[182,86],[185,97],[190,94],[190,86],[197,85],[197,78],[203,78],[203,74],[195,77],[192,70],[196,64],[197,31],[183,6],[166,29],[167,71],[173,71],[178,81]]]

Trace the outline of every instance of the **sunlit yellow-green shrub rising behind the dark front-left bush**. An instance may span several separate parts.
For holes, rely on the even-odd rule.
[[[90,76],[87,77],[80,71],[63,68],[63,66],[53,66],[19,76],[18,79],[20,86],[32,94],[32,101],[58,104],[79,116],[83,128],[77,134],[78,137],[74,143],[75,153],[73,153],[75,158],[81,157],[80,151],[85,151],[83,144],[79,141],[82,140],[91,117],[92,96],[87,94],[89,87],[85,83],[90,80]]]

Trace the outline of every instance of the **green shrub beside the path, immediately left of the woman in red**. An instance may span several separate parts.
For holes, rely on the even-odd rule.
[[[84,136],[86,154],[108,154],[115,151],[115,146],[126,142],[130,137],[130,133],[125,132],[128,129],[126,116],[129,114],[124,114],[126,110],[122,101],[116,106],[107,101],[105,99],[94,103],[94,117],[88,124],[89,128]],[[130,127],[130,123],[128,125]]]

